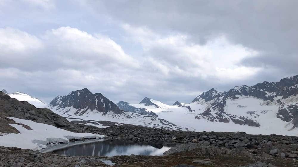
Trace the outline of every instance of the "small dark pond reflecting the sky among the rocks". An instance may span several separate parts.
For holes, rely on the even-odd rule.
[[[68,144],[56,145],[54,154],[71,156],[116,156],[116,155],[162,155],[170,147],[150,146],[144,143],[131,141],[91,141],[91,142],[70,142]],[[59,148],[60,147],[60,148]]]

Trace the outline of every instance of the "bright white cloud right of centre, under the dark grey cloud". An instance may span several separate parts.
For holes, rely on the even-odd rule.
[[[219,78],[223,81],[246,79],[261,68],[243,67],[243,58],[258,52],[239,44],[231,44],[224,36],[209,40],[205,45],[193,43],[185,34],[163,35],[146,27],[122,25],[144,51],[145,64],[159,69],[163,75],[181,75],[197,78]]]

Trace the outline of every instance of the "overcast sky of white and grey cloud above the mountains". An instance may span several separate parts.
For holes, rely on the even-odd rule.
[[[0,0],[0,89],[190,102],[298,74],[298,1]]]

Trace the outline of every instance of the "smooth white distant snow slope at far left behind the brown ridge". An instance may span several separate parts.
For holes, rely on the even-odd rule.
[[[4,92],[5,93],[5,92]],[[7,92],[6,92],[7,94]],[[33,96],[30,96],[26,93],[22,92],[14,92],[12,94],[8,94],[11,98],[16,98],[19,101],[27,101],[28,103],[34,105],[35,107],[41,108],[46,106],[46,103],[42,102],[38,98],[35,98]]]

